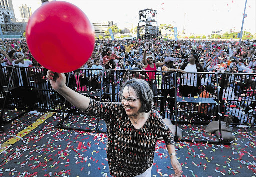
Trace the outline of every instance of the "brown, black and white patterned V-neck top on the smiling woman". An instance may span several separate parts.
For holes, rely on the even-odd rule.
[[[102,118],[107,127],[107,158],[114,177],[134,177],[145,172],[154,159],[155,144],[163,137],[166,146],[175,144],[173,135],[156,110],[140,129],[136,129],[124,106],[119,102],[99,102],[90,99],[88,115]]]

